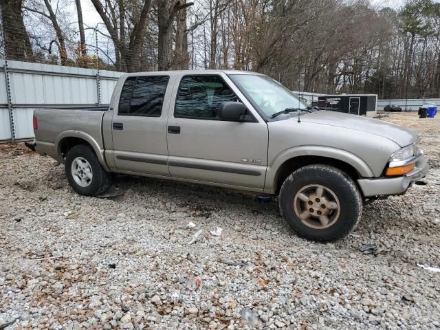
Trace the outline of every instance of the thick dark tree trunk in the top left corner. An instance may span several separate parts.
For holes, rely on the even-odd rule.
[[[0,0],[6,57],[10,60],[32,61],[34,54],[22,16],[22,0]]]

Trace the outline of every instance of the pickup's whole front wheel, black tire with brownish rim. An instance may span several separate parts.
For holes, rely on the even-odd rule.
[[[281,215],[296,234],[317,241],[342,239],[362,216],[358,187],[349,175],[328,165],[295,170],[281,186],[278,201]]]

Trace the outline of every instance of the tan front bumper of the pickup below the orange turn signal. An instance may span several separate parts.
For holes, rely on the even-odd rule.
[[[415,181],[425,177],[429,165],[424,157],[418,157],[415,168],[401,177],[379,177],[375,179],[359,179],[358,184],[364,197],[399,195],[406,192]]]

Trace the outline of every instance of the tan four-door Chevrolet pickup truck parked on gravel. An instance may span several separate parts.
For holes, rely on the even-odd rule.
[[[109,107],[36,109],[34,133],[28,146],[63,163],[81,195],[124,173],[278,196],[294,231],[320,241],[428,173],[413,131],[311,109],[253,72],[126,74]]]

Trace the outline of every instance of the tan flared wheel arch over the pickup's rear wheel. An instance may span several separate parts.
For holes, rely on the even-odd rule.
[[[95,152],[96,157],[98,157],[98,161],[102,167],[109,172],[109,167],[104,158],[104,149],[101,148],[100,144],[94,139],[94,137],[82,131],[64,131],[56,137],[55,146],[58,159],[61,159],[61,161],[64,162],[67,151],[78,144],[89,145]]]

